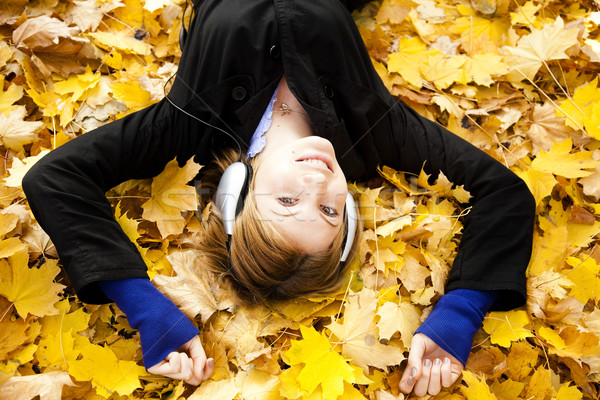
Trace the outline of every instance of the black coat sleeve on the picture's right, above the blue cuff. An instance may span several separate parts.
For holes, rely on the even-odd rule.
[[[492,309],[519,307],[526,299],[525,270],[532,247],[535,201],[527,185],[504,165],[457,135],[398,102],[392,113],[388,152],[383,163],[400,171],[442,171],[464,185],[472,207],[447,290],[498,290]],[[383,152],[385,153],[385,152]]]

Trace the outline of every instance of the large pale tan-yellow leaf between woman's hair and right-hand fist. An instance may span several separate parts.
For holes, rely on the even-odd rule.
[[[342,354],[351,359],[354,365],[365,369],[370,365],[386,370],[389,365],[400,364],[404,355],[402,349],[379,342],[378,329],[373,320],[377,301],[375,292],[369,289],[350,294],[344,308],[344,322],[334,320],[326,327],[339,339]]]

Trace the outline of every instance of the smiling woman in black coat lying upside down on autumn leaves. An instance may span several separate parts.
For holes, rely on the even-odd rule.
[[[259,216],[269,220],[261,239],[273,236],[292,244],[295,253],[286,263],[295,270],[315,247],[316,253],[327,253],[329,272],[319,273],[319,282],[329,275],[325,281],[335,284],[346,229],[340,218],[345,191],[340,173],[344,179],[365,180],[380,165],[413,173],[425,165],[433,177],[443,171],[471,193],[472,211],[447,294],[414,336],[400,384],[407,393],[436,394],[460,375],[485,312],[524,303],[534,203],[509,170],[389,94],[338,0],[195,4],[168,99],[61,146],[32,168],[23,188],[79,297],[119,305],[140,331],[150,372],[191,384],[207,379],[213,365],[197,330],[148,281],[104,192],[127,179],[156,175],[175,156],[180,162],[195,156],[206,164],[215,151],[235,148],[237,142],[247,150],[271,105],[266,146],[255,157],[251,194],[233,234],[223,233],[215,214],[212,225],[220,233],[204,235],[205,248],[217,249],[213,269],[228,275],[250,300],[259,287],[265,290],[257,300],[285,294],[278,287],[287,276],[256,283],[248,264],[259,256],[241,257],[244,246],[256,240],[244,230]],[[319,156],[302,159],[303,145],[313,146],[308,154]],[[278,167],[284,163],[291,170]],[[283,190],[288,181],[296,188]],[[297,212],[304,214],[289,223]],[[324,216],[328,213],[330,219]],[[298,220],[308,223],[298,229]],[[317,240],[315,232],[324,233]],[[309,287],[317,284],[312,279],[317,278],[308,281]],[[308,289],[297,293],[303,290]],[[152,307],[145,306],[148,299]]]

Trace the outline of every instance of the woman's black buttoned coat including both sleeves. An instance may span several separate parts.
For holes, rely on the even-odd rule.
[[[390,166],[438,171],[473,199],[447,289],[499,290],[495,309],[523,304],[535,204],[503,165],[390,95],[354,21],[337,0],[206,0],[189,28],[169,98],[233,131],[243,146],[284,74],[349,180]],[[59,147],[27,174],[31,209],[56,245],[81,300],[107,301],[100,280],[145,277],[104,193],[158,174],[175,156],[206,164],[234,142],[168,102]]]

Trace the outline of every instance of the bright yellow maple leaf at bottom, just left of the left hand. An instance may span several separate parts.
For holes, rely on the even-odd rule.
[[[134,361],[119,360],[108,348],[88,344],[81,349],[83,358],[69,363],[69,374],[78,381],[90,381],[101,396],[108,397],[116,392],[131,394],[141,387],[139,376],[146,375],[146,369]]]

